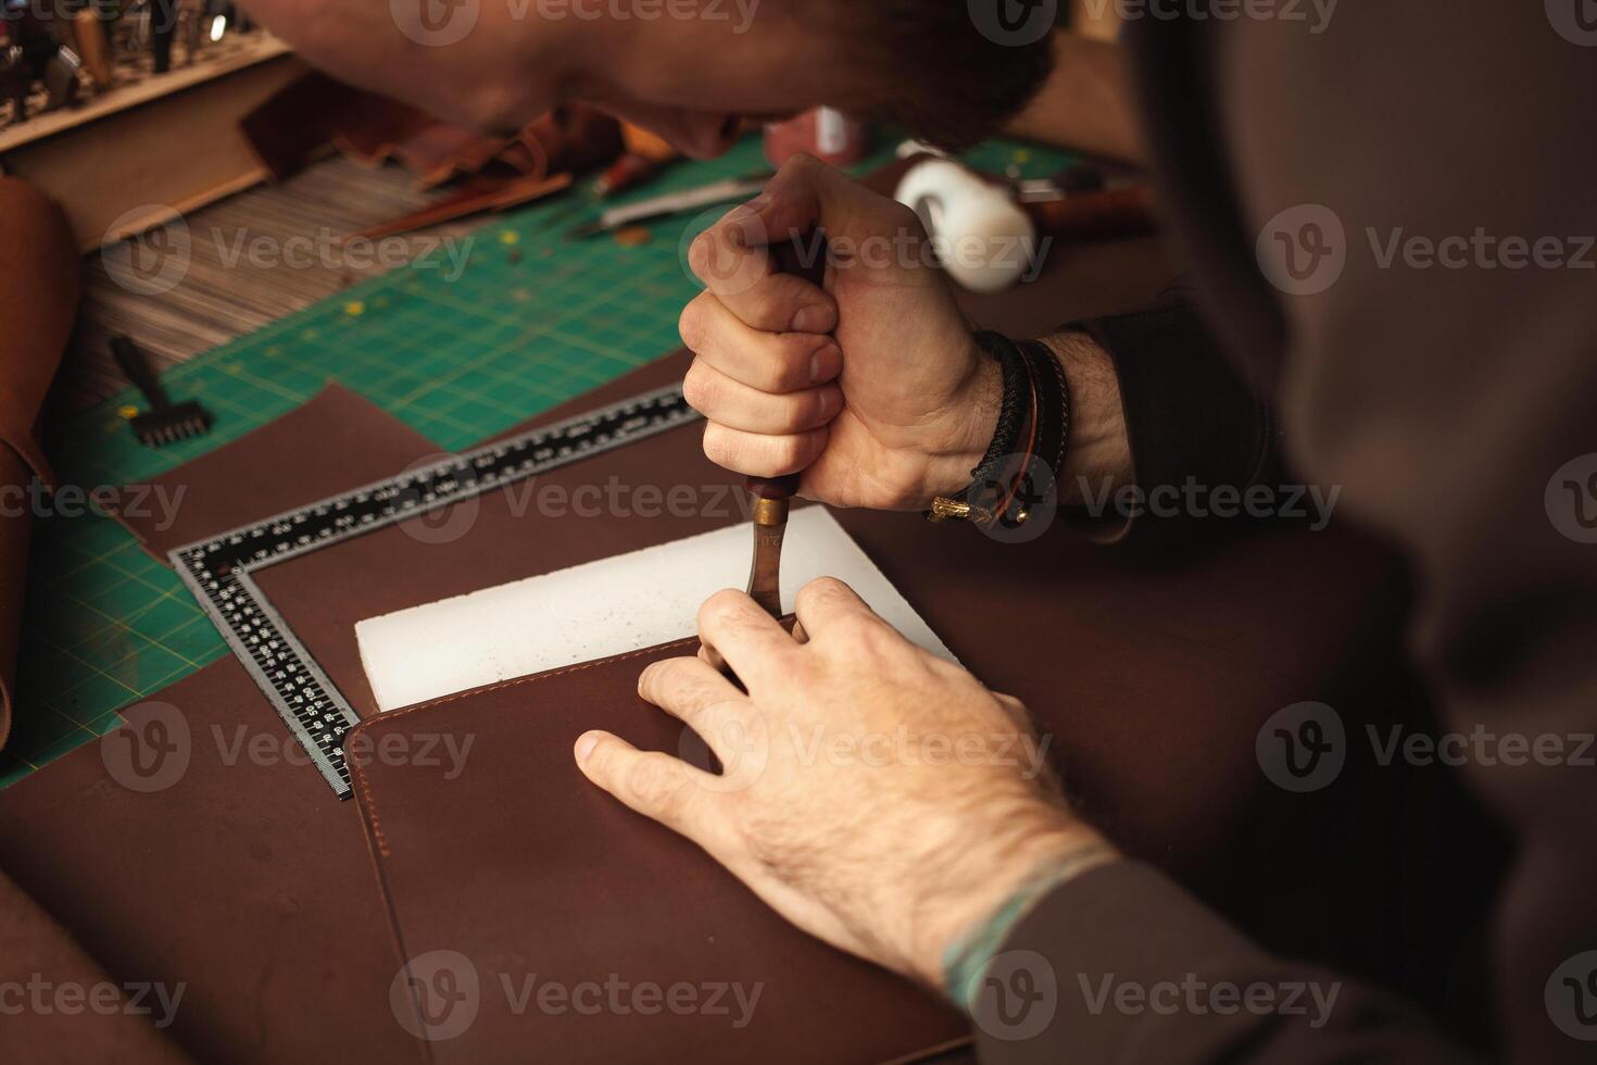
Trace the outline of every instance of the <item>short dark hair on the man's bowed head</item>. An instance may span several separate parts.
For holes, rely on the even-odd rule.
[[[877,83],[874,113],[942,148],[961,150],[998,133],[1054,69],[1051,34],[1001,43],[982,32],[965,0],[843,3],[864,61],[890,75]]]

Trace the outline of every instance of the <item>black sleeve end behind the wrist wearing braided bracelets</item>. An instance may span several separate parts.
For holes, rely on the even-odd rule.
[[[1207,505],[1215,489],[1241,493],[1271,476],[1276,423],[1265,390],[1238,374],[1185,286],[1062,332],[1091,337],[1113,361],[1134,468],[1132,485],[1073,485],[1081,505],[1067,514],[1080,532],[1104,541],[1190,535],[1198,521],[1225,521]]]

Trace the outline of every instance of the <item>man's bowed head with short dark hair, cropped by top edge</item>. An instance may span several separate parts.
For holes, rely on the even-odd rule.
[[[1011,0],[982,0],[995,10]],[[585,101],[692,155],[741,117],[829,104],[949,147],[1036,91],[1051,53],[958,0],[248,0],[316,65],[439,115],[516,128]]]

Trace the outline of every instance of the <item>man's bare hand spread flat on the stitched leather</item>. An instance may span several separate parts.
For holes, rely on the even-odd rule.
[[[1104,843],[1075,819],[1025,709],[899,635],[845,584],[798,592],[798,642],[741,592],[699,632],[703,656],[644,671],[723,770],[585,733],[585,774],[687,835],[798,928],[941,985],[952,942],[1038,870]]]

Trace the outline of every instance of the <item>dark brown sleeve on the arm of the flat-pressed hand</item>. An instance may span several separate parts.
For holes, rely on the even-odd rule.
[[[1399,1001],[1271,958],[1140,862],[1056,888],[973,1003],[987,1065],[1466,1062]]]

